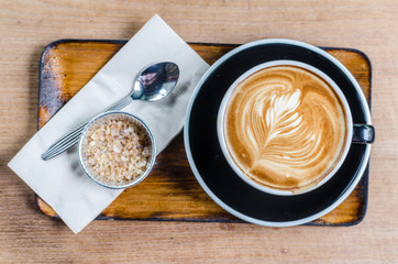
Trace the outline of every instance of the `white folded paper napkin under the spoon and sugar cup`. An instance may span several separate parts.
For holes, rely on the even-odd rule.
[[[122,190],[89,179],[79,166],[76,146],[46,162],[41,154],[62,135],[128,96],[139,73],[157,62],[178,65],[180,77],[173,92],[156,102],[133,101],[123,111],[141,118],[152,130],[158,152],[164,150],[181,130],[188,100],[209,65],[154,15],[9,163],[75,233]]]

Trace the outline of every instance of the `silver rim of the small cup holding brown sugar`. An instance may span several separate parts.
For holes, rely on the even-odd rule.
[[[136,178],[135,180],[129,183],[129,184],[125,184],[125,185],[109,185],[109,184],[104,184],[102,182],[100,182],[99,179],[97,179],[95,176],[92,176],[85,163],[84,163],[84,158],[82,158],[82,141],[84,141],[84,138],[86,135],[86,132],[87,130],[91,127],[91,124],[93,124],[97,120],[101,119],[101,118],[104,118],[106,116],[110,116],[110,114],[122,114],[122,116],[125,116],[125,117],[129,117],[135,121],[137,121],[144,129],[145,131],[147,132],[148,136],[150,136],[150,141],[151,141],[151,146],[152,146],[152,156],[151,156],[151,162],[150,162],[150,165],[147,166],[145,173],[143,173],[139,178]],[[79,158],[79,164],[80,164],[80,167],[81,169],[84,170],[84,173],[91,179],[93,180],[96,184],[100,185],[100,186],[103,186],[103,187],[107,187],[107,188],[110,188],[110,189],[125,189],[125,188],[129,188],[129,187],[132,187],[139,183],[141,183],[144,178],[146,178],[146,176],[150,174],[150,172],[152,170],[154,164],[155,164],[155,160],[156,160],[156,142],[155,142],[155,138],[152,133],[152,131],[150,130],[150,128],[145,124],[144,121],[142,121],[140,118],[135,117],[134,114],[131,114],[129,112],[124,112],[124,111],[108,111],[108,112],[103,112],[103,113],[100,113],[98,114],[97,117],[92,118],[85,127],[85,129],[82,130],[81,132],[81,135],[80,135],[80,139],[79,139],[79,143],[78,143],[78,158]]]

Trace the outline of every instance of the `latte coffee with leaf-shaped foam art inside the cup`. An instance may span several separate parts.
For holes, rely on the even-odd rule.
[[[223,136],[235,165],[277,190],[309,189],[341,161],[347,118],[335,90],[295,65],[259,69],[228,98]]]

